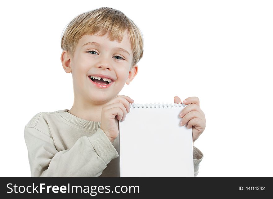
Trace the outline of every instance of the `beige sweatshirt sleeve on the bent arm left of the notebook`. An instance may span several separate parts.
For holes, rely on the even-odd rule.
[[[32,177],[98,177],[119,156],[101,128],[80,137],[67,150],[58,151],[50,134],[25,126]]]

